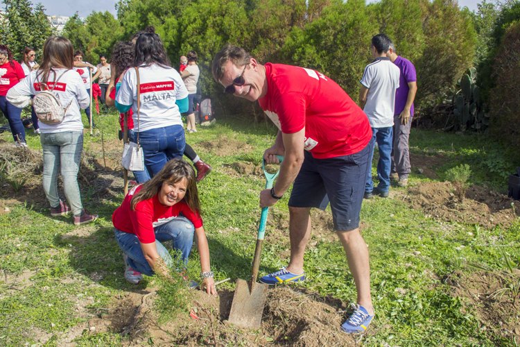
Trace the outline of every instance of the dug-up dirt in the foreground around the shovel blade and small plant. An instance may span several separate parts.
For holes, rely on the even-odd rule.
[[[220,296],[193,291],[191,312],[178,314],[164,324],[157,322],[152,310],[153,294],[143,296],[140,305],[129,300],[103,319],[93,319],[88,326],[110,328],[130,335],[129,345],[153,341],[159,345],[240,345],[259,346],[270,343],[286,346],[354,346],[354,337],[341,332],[345,305],[337,299],[306,294],[291,287],[270,289],[263,311],[260,330],[236,328],[227,323],[233,292]],[[133,295],[133,294],[132,294]],[[150,296],[152,295],[152,296]],[[117,317],[112,316],[117,315]],[[101,330],[102,331],[102,330]]]

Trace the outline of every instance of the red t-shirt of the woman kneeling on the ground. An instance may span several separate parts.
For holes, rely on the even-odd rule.
[[[179,214],[186,217],[195,228],[202,226],[202,218],[198,212],[192,211],[184,200],[173,206],[165,206],[159,203],[157,195],[148,200],[140,201],[132,211],[130,202],[132,197],[141,190],[143,186],[138,185],[126,194],[123,203],[112,214],[112,223],[114,227],[137,235],[141,244],[151,244],[155,242],[155,233],[153,228],[168,223]]]

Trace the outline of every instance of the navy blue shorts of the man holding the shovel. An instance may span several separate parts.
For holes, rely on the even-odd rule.
[[[358,228],[369,158],[370,144],[358,153],[329,159],[315,159],[306,151],[289,206],[325,210],[330,202],[334,230]]]

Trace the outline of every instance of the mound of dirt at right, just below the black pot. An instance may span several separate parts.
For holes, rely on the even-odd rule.
[[[410,187],[404,200],[431,217],[485,228],[508,227],[520,212],[520,201],[484,187],[469,187],[462,201],[457,195],[450,182],[428,182]]]

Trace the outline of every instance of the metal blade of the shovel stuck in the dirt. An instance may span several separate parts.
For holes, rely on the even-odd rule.
[[[250,290],[247,281],[240,278],[236,280],[235,294],[229,312],[229,323],[241,328],[259,329],[263,307],[266,305],[267,289],[268,285],[253,282]]]

